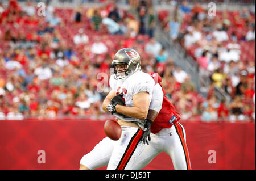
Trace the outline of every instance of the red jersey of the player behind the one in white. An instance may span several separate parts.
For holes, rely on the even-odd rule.
[[[151,77],[155,81],[155,85],[159,83],[159,85],[162,87],[160,82],[162,82],[162,78],[157,73],[148,73],[151,75]],[[162,109],[159,111],[158,116],[153,121],[151,125],[150,131],[153,134],[158,133],[163,128],[171,128],[174,123],[180,120],[180,117],[178,116],[179,113],[176,112],[176,109],[172,103],[168,100],[166,96],[166,92],[164,91],[163,87],[163,103],[162,103]]]

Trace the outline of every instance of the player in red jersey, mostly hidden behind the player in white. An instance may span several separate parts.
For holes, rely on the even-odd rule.
[[[166,152],[172,159],[174,169],[191,170],[185,129],[177,122],[180,120],[179,113],[175,111],[175,107],[165,96],[165,91],[160,84],[162,78],[157,73],[148,74],[155,80],[152,102],[147,116],[147,123],[151,124],[147,125],[148,131],[143,133],[142,141],[147,145],[135,161],[133,169],[143,169],[156,155]]]

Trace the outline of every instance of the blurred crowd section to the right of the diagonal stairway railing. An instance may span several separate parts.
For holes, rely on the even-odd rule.
[[[212,13],[197,2],[189,7],[183,1],[173,10],[159,13],[159,19],[170,39],[197,62],[202,85],[209,79],[210,85],[204,87],[207,100],[197,108],[201,120],[255,121],[255,9]],[[215,89],[230,101],[217,100]],[[186,109],[191,110],[184,106]]]

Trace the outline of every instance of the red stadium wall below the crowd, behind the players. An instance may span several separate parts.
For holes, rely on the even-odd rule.
[[[255,169],[255,123],[180,123],[192,169]],[[95,120],[0,121],[0,169],[78,169],[82,156],[105,137],[103,126]],[[46,163],[38,163],[39,150]],[[173,166],[162,153],[144,169]]]

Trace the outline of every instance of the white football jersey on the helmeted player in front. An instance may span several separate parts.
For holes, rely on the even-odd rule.
[[[148,92],[151,102],[155,81],[147,73],[138,70],[126,79],[116,80],[113,76],[110,76],[109,84],[110,88],[117,92],[117,94],[123,93],[123,98],[125,99],[126,106],[133,107],[133,96],[135,94],[138,94],[139,92]],[[118,114],[114,114],[114,116],[118,117],[123,121],[134,121],[137,124],[139,123],[139,127],[144,127],[144,120],[135,119],[132,117],[123,117]]]

